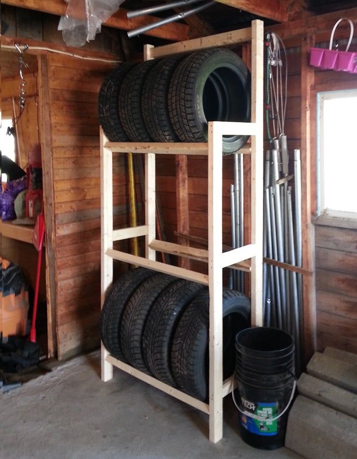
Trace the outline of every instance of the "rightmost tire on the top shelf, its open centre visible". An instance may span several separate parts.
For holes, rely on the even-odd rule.
[[[183,142],[207,142],[208,121],[250,121],[251,75],[229,49],[206,49],[187,56],[169,87],[169,113]],[[230,155],[249,136],[224,136],[223,154]]]

